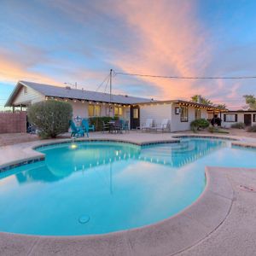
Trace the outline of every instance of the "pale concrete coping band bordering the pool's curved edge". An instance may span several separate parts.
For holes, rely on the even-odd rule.
[[[172,138],[180,137],[209,136],[172,136]],[[227,139],[227,137],[217,138]],[[231,143],[232,145],[256,148],[254,143],[241,142],[241,140],[239,141],[234,137],[229,137],[229,139],[236,140]],[[79,141],[138,144],[119,139],[82,139]],[[70,139],[59,142],[68,143]],[[148,143],[154,144],[155,142]],[[159,143],[178,143],[178,140],[164,140]],[[53,144],[56,144],[56,142],[38,143],[30,149],[34,150],[34,148]],[[40,157],[42,157],[42,154]],[[3,250],[7,250],[9,254],[21,254],[20,252],[23,252],[24,255],[31,255],[36,252],[36,254],[42,255],[55,253],[60,255],[84,255],[84,252],[90,252],[88,254],[91,255],[174,255],[183,252],[209,236],[214,230],[217,230],[230,213],[234,191],[228,177],[221,171],[222,169],[222,167],[212,168],[207,166],[207,184],[200,197],[189,207],[183,209],[182,212],[178,212],[171,218],[156,224],[92,236],[30,236],[0,232],[0,254]]]

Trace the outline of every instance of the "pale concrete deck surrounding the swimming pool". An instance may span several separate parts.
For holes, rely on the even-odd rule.
[[[94,133],[90,139],[140,144],[177,142],[178,136],[183,134]],[[256,139],[230,138],[238,139],[234,143],[241,146],[256,147]],[[68,140],[0,147],[0,167],[40,158],[44,155],[32,148],[63,141]],[[183,212],[157,224],[98,236],[0,233],[0,255],[256,255],[256,193],[247,189],[256,191],[256,169],[207,166],[206,175],[207,186],[200,198]]]

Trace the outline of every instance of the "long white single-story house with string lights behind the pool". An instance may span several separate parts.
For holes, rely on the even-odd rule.
[[[169,119],[170,131],[186,131],[189,130],[191,121],[200,118],[211,119],[214,114],[221,116],[222,111],[195,102],[110,96],[108,93],[27,81],[17,83],[5,106],[22,109],[48,99],[70,102],[73,106],[73,117],[119,116],[129,121],[131,129],[145,124],[146,119],[154,119],[154,125],[160,124],[163,119]]]

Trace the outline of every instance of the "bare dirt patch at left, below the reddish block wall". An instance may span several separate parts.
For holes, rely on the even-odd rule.
[[[37,141],[38,136],[28,133],[2,133],[0,134],[0,146],[14,145]]]

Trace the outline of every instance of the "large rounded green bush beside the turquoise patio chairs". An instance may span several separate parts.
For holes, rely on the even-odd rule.
[[[28,120],[38,129],[41,138],[57,137],[68,131],[73,108],[67,102],[49,100],[32,104],[27,109]]]

